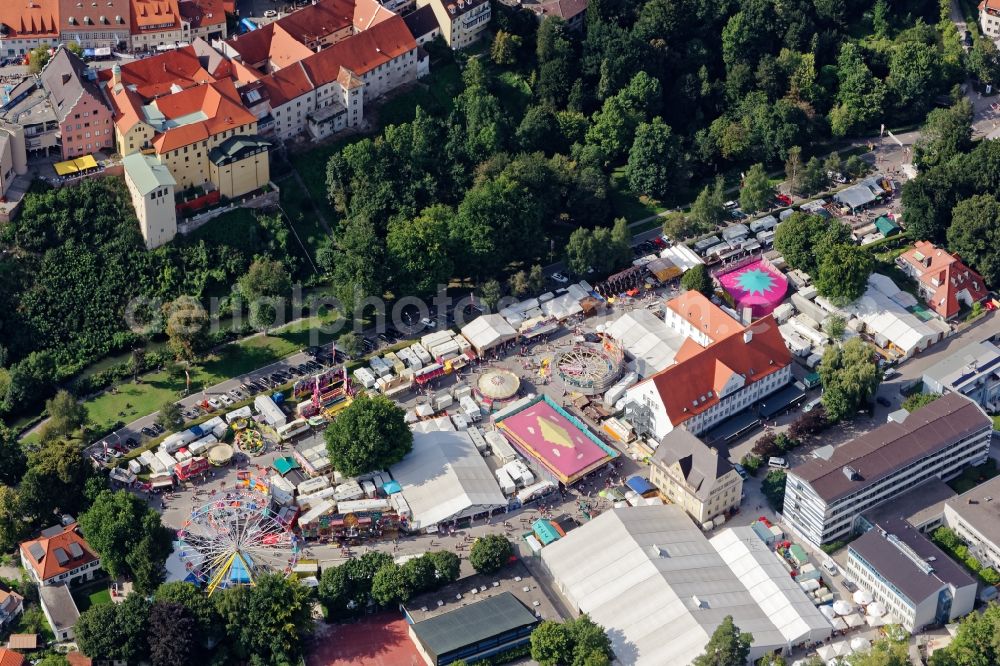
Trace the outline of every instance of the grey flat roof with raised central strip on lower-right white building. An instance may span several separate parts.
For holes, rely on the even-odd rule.
[[[879,528],[886,534],[883,535]],[[924,571],[903,549],[893,544],[889,535],[908,546],[930,571]],[[883,578],[914,604],[936,595],[945,584],[956,588],[976,584],[965,569],[902,518],[883,521],[879,527],[852,541],[848,548],[875,567]]]

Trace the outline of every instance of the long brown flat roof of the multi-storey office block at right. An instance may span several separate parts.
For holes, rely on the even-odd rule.
[[[814,458],[790,473],[832,502],[992,425],[976,403],[949,393],[913,412],[903,423],[886,423],[837,447],[829,460]],[[843,471],[847,466],[858,473],[856,478],[847,477]]]

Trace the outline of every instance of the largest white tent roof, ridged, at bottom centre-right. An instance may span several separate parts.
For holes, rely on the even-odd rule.
[[[787,646],[768,611],[677,506],[606,511],[541,557],[570,602],[605,627],[622,663],[689,664],[727,615],[753,634],[755,649]]]

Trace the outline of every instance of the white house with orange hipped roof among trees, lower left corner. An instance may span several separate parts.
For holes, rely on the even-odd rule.
[[[75,522],[42,530],[38,538],[21,544],[20,553],[21,566],[41,587],[87,581],[101,567]]]

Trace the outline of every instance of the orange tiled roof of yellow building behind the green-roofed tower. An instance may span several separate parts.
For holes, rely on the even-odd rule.
[[[204,120],[173,127],[157,135],[153,139],[153,147],[160,154],[197,141],[204,141],[210,136],[257,120],[243,106],[239,93],[236,92],[236,86],[229,79],[161,97],[155,104],[168,120],[189,116],[198,111],[205,115]]]

